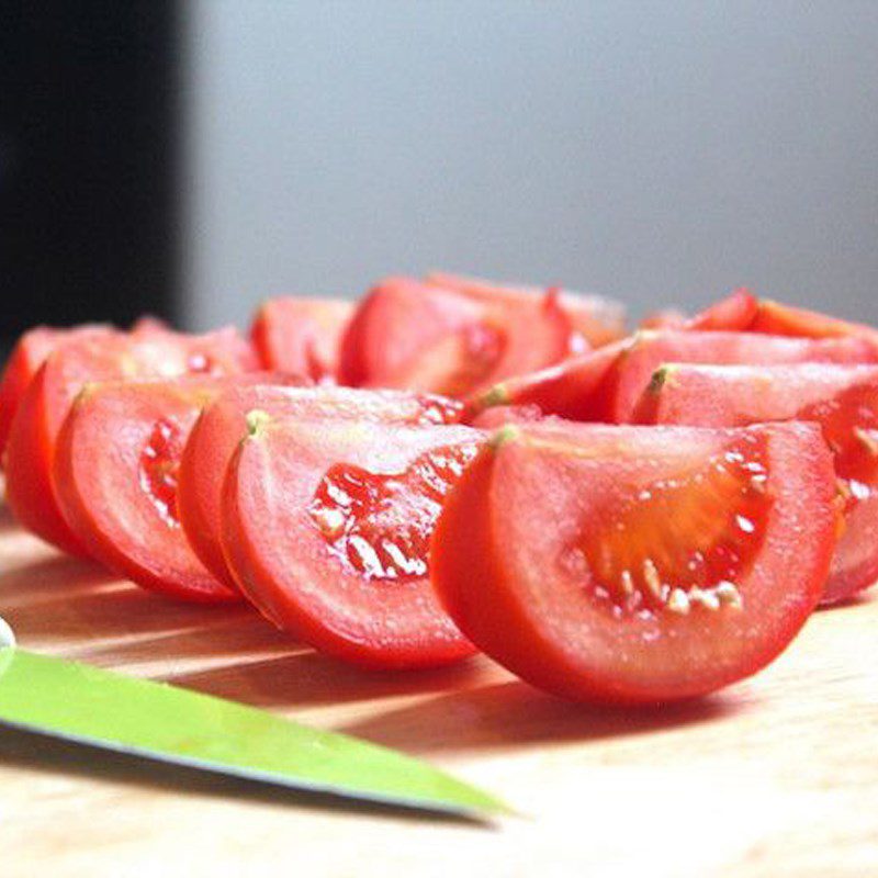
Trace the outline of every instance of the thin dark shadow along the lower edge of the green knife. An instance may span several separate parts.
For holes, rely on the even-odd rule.
[[[473,828],[491,826],[479,820],[442,811],[415,810],[327,792],[286,789],[196,768],[167,765],[142,756],[113,753],[15,729],[0,729],[0,763],[29,772],[126,784],[158,792],[236,798],[278,808],[316,808],[327,813],[345,810],[369,817],[392,817],[394,820],[430,819]]]

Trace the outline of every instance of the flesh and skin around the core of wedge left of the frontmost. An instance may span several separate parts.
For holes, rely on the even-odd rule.
[[[278,627],[363,667],[437,667],[472,655],[426,576],[386,582],[353,570],[308,510],[339,463],[399,473],[434,449],[482,438],[458,426],[260,419],[223,492],[223,550],[241,589]]]

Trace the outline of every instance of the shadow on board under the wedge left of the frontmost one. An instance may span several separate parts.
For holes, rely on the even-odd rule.
[[[486,660],[474,658],[430,671],[364,671],[302,648],[291,655],[165,679],[255,707],[293,708],[460,689],[484,680],[486,665]]]

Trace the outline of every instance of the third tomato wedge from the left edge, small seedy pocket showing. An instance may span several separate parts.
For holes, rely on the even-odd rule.
[[[65,521],[88,553],[138,585],[171,597],[238,599],[187,542],[178,509],[178,471],[203,406],[230,385],[271,379],[250,372],[89,384],[65,419],[53,473]]]

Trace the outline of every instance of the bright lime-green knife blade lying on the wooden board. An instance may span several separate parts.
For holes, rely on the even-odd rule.
[[[419,759],[266,710],[0,648],[0,723],[164,763],[461,817],[511,813]]]

